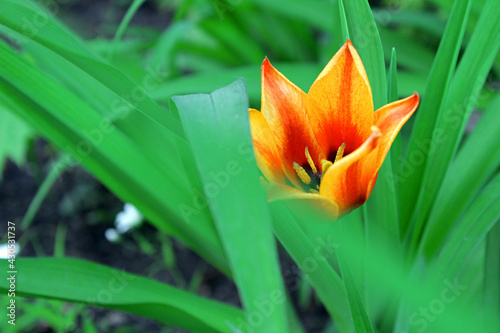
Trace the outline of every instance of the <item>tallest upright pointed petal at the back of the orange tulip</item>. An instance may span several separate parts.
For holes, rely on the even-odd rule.
[[[352,153],[371,135],[373,98],[361,59],[347,40],[307,95],[307,115],[325,157],[346,143]],[[333,155],[333,157],[335,157]]]

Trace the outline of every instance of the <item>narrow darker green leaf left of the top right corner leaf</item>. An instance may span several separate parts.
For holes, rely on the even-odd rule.
[[[458,58],[458,52],[462,44],[467,19],[469,16],[471,0],[456,1],[453,7],[446,30],[439,45],[439,49],[432,65],[428,83],[425,88],[425,94],[422,98],[420,107],[415,115],[415,124],[413,127],[410,143],[407,149],[405,160],[400,169],[398,177],[401,182],[400,187],[405,188],[401,192],[401,219],[403,230],[406,230],[410,223],[413,212],[420,212],[418,206],[423,200],[425,193],[428,196],[427,188],[421,187],[424,172],[429,169],[427,159],[429,154],[429,141],[438,123],[438,117],[444,112],[445,99],[448,94],[451,78]],[[416,156],[418,165],[414,165]],[[402,170],[411,169],[412,173],[407,177],[402,177]],[[425,190],[425,192],[424,192]],[[427,200],[432,202],[432,199]],[[417,203],[417,205],[415,205]],[[422,217],[424,215],[422,214]],[[415,225],[413,231],[413,241],[419,238],[423,228],[423,219]],[[415,246],[415,244],[413,244]]]

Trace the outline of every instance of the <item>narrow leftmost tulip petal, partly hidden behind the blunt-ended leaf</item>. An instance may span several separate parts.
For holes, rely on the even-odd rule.
[[[285,183],[285,173],[271,128],[261,112],[250,109],[250,129],[259,169],[267,180]]]

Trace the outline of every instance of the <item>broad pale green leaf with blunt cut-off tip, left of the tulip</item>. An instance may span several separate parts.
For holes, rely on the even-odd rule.
[[[173,101],[195,153],[208,205],[248,316],[248,330],[284,332],[286,294],[252,150],[244,81],[210,95],[177,96]],[[252,314],[262,309],[266,312],[256,322]]]

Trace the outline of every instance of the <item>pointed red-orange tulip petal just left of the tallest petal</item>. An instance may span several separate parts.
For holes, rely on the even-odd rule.
[[[285,172],[297,186],[293,163],[306,165],[305,148],[319,163],[319,150],[306,114],[307,95],[278,72],[266,58],[262,63],[262,114],[274,134]]]

